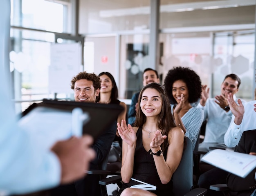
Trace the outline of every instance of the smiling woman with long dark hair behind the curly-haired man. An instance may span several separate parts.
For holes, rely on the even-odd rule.
[[[101,72],[99,78],[101,81],[101,91],[98,96],[98,102],[104,104],[119,104],[124,107],[124,111],[122,111],[117,118],[117,122],[121,123],[122,119],[126,119],[126,104],[117,99],[118,89],[115,79],[109,72]],[[115,162],[119,159],[121,155],[121,142],[117,131],[114,142],[111,145],[108,162]]]

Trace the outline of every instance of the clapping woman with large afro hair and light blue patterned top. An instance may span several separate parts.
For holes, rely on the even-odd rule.
[[[164,79],[164,88],[171,101],[171,111],[176,125],[190,138],[195,148],[200,127],[204,120],[202,109],[192,107],[191,103],[201,97],[200,77],[188,67],[174,67]]]

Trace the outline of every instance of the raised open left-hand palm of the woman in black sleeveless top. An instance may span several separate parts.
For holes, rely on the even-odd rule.
[[[119,136],[124,140],[129,146],[136,144],[137,136],[130,124],[126,125],[126,120],[121,121],[121,125],[117,122],[117,130]]]

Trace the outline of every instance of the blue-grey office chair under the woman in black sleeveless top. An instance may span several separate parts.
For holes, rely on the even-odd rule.
[[[121,187],[121,176],[112,176],[99,180],[99,184],[106,186],[112,183],[117,183]],[[193,184],[193,144],[186,137],[186,148],[182,155],[179,167],[173,174],[173,192],[175,196],[203,196],[207,193],[207,189],[196,188]]]

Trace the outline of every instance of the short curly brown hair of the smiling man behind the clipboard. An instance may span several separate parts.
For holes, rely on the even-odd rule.
[[[90,80],[92,81],[92,85],[94,87],[94,90],[101,89],[101,80],[99,76],[97,76],[94,73],[87,73],[86,71],[78,73],[76,76],[74,76],[71,80],[71,89],[74,90],[74,86],[77,80]]]

